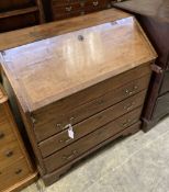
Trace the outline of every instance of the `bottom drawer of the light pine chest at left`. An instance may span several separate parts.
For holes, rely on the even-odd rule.
[[[16,184],[29,177],[29,174],[30,170],[24,158],[8,168],[0,167],[0,191]]]

